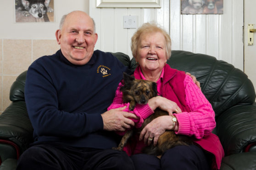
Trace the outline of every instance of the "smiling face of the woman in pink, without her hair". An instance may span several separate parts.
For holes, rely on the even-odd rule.
[[[143,72],[161,72],[167,61],[166,41],[161,32],[141,36],[136,61]]]

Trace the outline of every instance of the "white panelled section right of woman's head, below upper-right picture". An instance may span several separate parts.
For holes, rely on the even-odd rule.
[[[171,0],[172,47],[208,54],[243,70],[243,0],[223,3],[223,15],[180,15],[180,0]]]

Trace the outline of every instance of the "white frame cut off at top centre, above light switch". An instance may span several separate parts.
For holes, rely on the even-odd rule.
[[[96,0],[97,8],[161,8],[161,0]]]

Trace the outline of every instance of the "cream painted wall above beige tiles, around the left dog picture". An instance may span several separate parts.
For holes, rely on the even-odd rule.
[[[61,16],[89,13],[89,0],[54,0],[55,22],[15,23],[15,0],[0,0],[0,39],[55,39]]]

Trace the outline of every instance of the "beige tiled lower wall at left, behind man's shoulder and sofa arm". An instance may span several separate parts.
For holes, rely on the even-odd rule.
[[[51,55],[59,49],[56,40],[0,40],[0,113],[11,103],[9,92],[17,76],[43,55]]]

